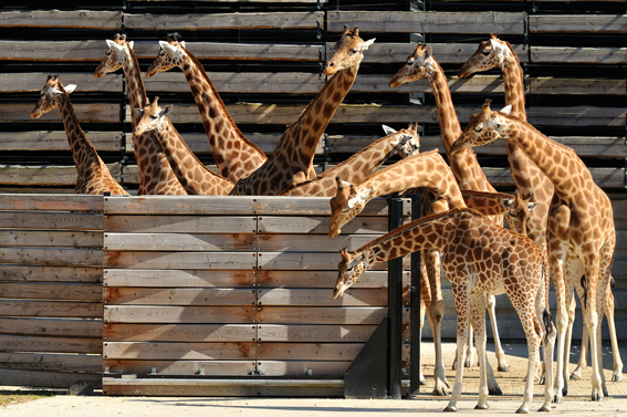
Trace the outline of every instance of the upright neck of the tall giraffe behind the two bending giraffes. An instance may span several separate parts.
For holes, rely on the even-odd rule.
[[[427,77],[431,84],[433,96],[436,97],[436,108],[438,112],[442,144],[445,145],[445,150],[449,157],[449,164],[459,188],[477,191],[494,191],[494,188],[488,181],[485,174],[477,160],[477,155],[474,155],[472,149],[466,149],[460,154],[450,155],[449,150],[451,145],[461,135],[461,127],[454,111],[447,77],[435,60],[433,64],[430,71],[428,71]]]

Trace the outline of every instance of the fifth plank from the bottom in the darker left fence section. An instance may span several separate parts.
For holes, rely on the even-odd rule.
[[[102,319],[102,303],[80,301],[0,300],[0,315],[7,317]]]

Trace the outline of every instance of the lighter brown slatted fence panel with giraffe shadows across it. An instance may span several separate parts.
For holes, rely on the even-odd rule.
[[[386,231],[386,201],[331,240],[328,198],[234,199],[105,197],[105,376],[343,378],[387,314],[387,272],[333,300],[338,252]]]

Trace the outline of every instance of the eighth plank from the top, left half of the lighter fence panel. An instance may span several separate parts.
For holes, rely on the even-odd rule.
[[[254,324],[107,324],[109,342],[254,342]]]

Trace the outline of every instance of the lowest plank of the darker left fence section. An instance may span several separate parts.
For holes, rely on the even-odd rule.
[[[0,369],[0,385],[67,389],[79,379],[102,379],[102,373],[64,373]]]

